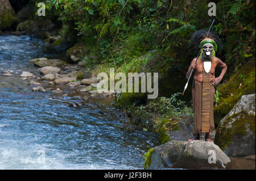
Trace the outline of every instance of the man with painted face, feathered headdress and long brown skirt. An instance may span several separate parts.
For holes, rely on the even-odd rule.
[[[205,141],[213,142],[210,140],[210,132],[214,130],[214,86],[217,86],[224,77],[227,66],[215,56],[222,48],[221,40],[215,33],[199,30],[193,33],[192,44],[201,53],[196,64],[196,58],[193,58],[186,74],[188,78],[192,68],[195,69],[192,83],[194,131],[193,137],[188,141],[200,140],[200,133],[205,133]],[[221,68],[219,77],[214,75],[216,67]]]

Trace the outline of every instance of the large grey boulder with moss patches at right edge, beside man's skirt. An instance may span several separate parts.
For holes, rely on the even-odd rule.
[[[255,154],[255,94],[243,95],[220,121],[214,142],[229,157]]]

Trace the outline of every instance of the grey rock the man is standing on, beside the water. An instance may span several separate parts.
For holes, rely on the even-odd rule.
[[[208,141],[168,141],[146,154],[144,169],[224,168],[229,157],[215,144]]]

